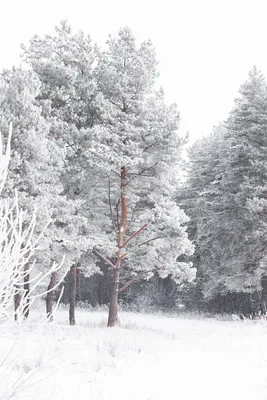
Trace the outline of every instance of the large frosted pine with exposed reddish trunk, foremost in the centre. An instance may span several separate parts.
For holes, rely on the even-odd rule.
[[[88,131],[96,185],[87,212],[98,227],[94,253],[111,269],[108,326],[114,326],[118,295],[131,283],[155,272],[192,280],[195,269],[179,259],[193,251],[188,218],[174,200],[183,138],[176,106],[166,106],[163,91],[154,88],[155,50],[150,41],[137,46],[127,27],[107,45],[95,71],[102,112]]]

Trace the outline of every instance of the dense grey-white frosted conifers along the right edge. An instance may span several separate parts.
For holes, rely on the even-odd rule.
[[[266,311],[267,91],[254,67],[228,120],[190,151],[185,200],[206,298],[253,293]],[[200,273],[199,271],[199,273]],[[254,300],[255,301],[255,300]]]

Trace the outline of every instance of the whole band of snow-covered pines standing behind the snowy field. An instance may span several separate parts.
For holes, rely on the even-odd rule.
[[[13,125],[2,197],[17,190],[29,218],[37,209],[35,235],[48,223],[31,274],[64,257],[48,287],[71,268],[62,300],[109,304],[109,326],[119,299],[136,309],[265,313],[262,74],[250,71],[229,118],[185,160],[188,138],[156,88],[151,41],[138,45],[126,27],[101,49],[63,21],[22,46],[22,59],[0,78],[4,139]]]

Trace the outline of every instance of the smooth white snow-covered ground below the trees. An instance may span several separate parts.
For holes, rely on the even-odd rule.
[[[38,315],[34,315],[38,319]],[[267,323],[66,309],[1,328],[0,399],[267,399]],[[16,393],[16,390],[17,393]]]

